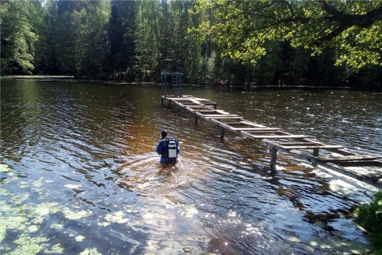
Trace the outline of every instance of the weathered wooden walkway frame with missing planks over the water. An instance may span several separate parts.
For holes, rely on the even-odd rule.
[[[180,108],[195,114],[195,123],[199,118],[220,126],[221,140],[224,139],[224,130],[237,132],[244,137],[261,142],[271,148],[272,169],[277,162],[277,152],[285,152],[299,159],[304,159],[312,164],[340,172],[354,179],[364,181],[378,188],[382,188],[382,156],[359,155],[347,152],[342,145],[325,145],[321,142],[309,140],[306,135],[292,135],[279,128],[268,128],[249,120],[240,115],[217,110],[217,103],[205,98],[195,98],[191,95],[177,97],[173,95],[162,96],[168,101],[168,108],[172,102]],[[320,149],[334,152],[338,157],[320,157]],[[375,169],[363,169],[357,171],[352,168],[359,166],[373,166]],[[380,168],[380,169],[378,169]]]

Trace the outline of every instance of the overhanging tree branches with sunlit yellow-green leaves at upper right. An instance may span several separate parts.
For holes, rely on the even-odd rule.
[[[223,55],[255,64],[269,40],[287,40],[317,55],[336,47],[336,64],[354,69],[381,63],[382,1],[197,0],[195,13],[212,13],[193,31],[211,33]]]

